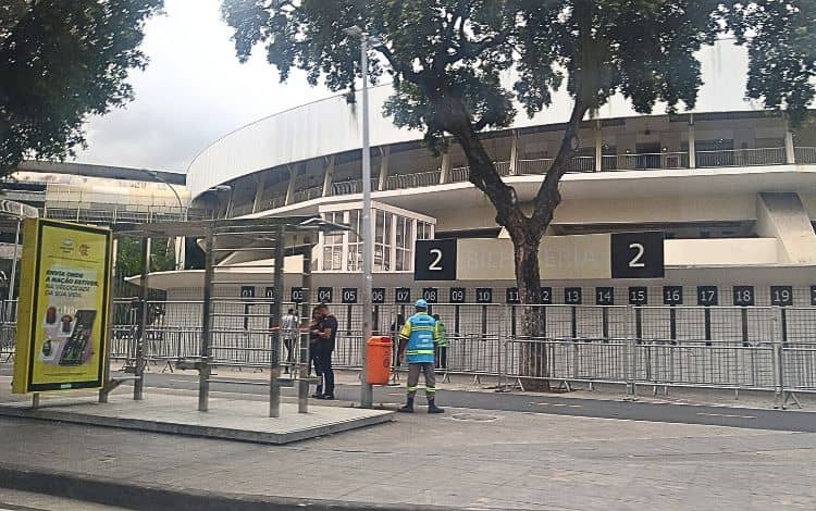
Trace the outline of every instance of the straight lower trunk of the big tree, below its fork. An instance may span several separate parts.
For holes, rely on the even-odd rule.
[[[521,308],[521,335],[512,352],[520,354],[519,376],[526,390],[545,391],[549,389],[549,369],[546,336],[546,313],[541,303],[541,274],[539,270],[540,241],[522,240],[514,242],[516,262],[516,285],[519,288]]]

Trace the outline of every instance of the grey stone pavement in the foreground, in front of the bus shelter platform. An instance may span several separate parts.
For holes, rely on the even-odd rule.
[[[816,509],[816,434],[423,411],[289,446],[0,419],[0,469],[351,508]]]

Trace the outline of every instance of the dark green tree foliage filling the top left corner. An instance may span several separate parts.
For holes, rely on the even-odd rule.
[[[0,7],[0,176],[24,158],[64,159],[82,125],[133,98],[138,47],[163,0],[8,0]]]

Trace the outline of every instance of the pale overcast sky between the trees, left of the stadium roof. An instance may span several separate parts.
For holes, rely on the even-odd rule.
[[[226,133],[331,95],[310,87],[299,72],[280,84],[262,51],[238,63],[220,3],[165,0],[166,14],[146,29],[150,64],[131,73],[135,101],[88,122],[88,148],[77,161],[185,172]]]

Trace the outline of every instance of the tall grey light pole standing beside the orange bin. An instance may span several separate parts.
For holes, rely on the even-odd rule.
[[[346,34],[360,39],[360,71],[362,73],[362,371],[360,372],[360,407],[373,404],[372,387],[368,383],[368,353],[366,342],[371,337],[372,259],[374,256],[371,230],[371,144],[369,141],[369,53],[376,39],[360,27],[346,28]]]

